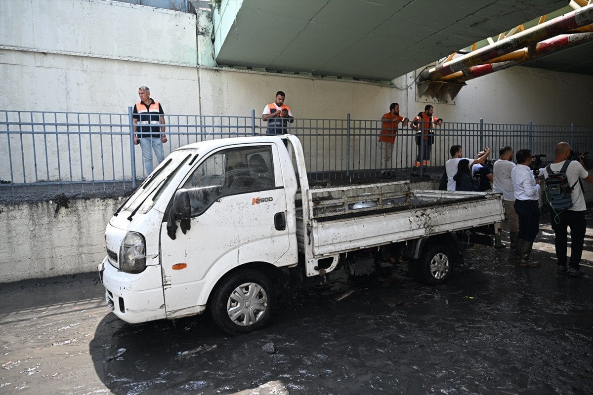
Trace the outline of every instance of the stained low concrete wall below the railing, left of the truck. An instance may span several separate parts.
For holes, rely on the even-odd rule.
[[[0,282],[95,271],[106,255],[105,227],[120,203],[89,199],[70,200],[67,208],[56,201],[0,205]]]

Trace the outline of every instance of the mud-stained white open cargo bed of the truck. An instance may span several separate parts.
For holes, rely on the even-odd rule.
[[[499,194],[410,190],[409,181],[319,188],[307,198],[308,215],[297,214],[297,229],[307,229],[307,235],[298,232],[299,250],[308,243],[316,258],[504,218]]]

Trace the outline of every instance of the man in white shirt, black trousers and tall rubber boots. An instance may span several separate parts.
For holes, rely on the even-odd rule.
[[[531,151],[517,152],[517,166],[511,171],[515,191],[515,211],[519,216],[517,235],[517,263],[521,266],[539,266],[530,259],[535,236],[540,232],[540,184],[531,171]]]

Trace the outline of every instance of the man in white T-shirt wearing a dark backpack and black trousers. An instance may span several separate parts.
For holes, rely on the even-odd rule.
[[[562,167],[565,165],[565,161],[570,156],[570,144],[559,143],[554,149],[554,156],[556,160],[544,169],[544,177],[548,178],[551,172],[560,172]],[[572,207],[563,211],[555,211],[550,207],[551,224],[554,233],[556,233],[556,258],[557,261],[557,272],[566,273],[566,245],[568,242],[567,228],[570,227],[570,267],[568,274],[578,277],[585,274],[581,270],[581,255],[583,252],[583,243],[585,240],[585,195],[583,194],[581,179],[586,182],[593,181],[593,175],[589,174],[582,163],[582,160],[571,160],[568,168],[566,168],[566,178],[572,192],[570,199],[572,200]],[[574,185],[574,187],[573,187]],[[544,198],[545,199],[545,198]]]

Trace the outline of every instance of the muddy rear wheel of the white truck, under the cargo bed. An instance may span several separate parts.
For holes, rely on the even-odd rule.
[[[428,285],[437,285],[446,282],[451,275],[451,252],[449,249],[436,243],[426,246],[415,262],[410,262],[410,274],[414,280]]]

